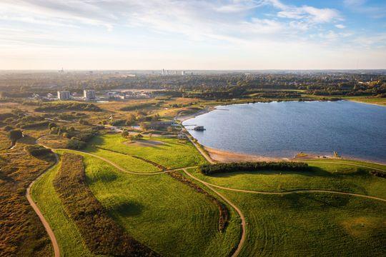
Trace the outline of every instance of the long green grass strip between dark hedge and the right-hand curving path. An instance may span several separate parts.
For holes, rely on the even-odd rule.
[[[375,163],[323,160],[310,162],[309,165],[312,166],[312,171],[234,172],[213,174],[212,176],[204,176],[195,169],[191,169],[190,172],[193,172],[194,176],[204,181],[229,188],[269,192],[295,189],[325,189],[386,198],[385,178],[370,175],[368,173],[369,168],[348,164],[375,167],[386,171],[386,166]]]

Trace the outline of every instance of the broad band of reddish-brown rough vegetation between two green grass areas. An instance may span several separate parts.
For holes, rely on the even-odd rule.
[[[54,178],[54,188],[92,253],[107,256],[159,256],[125,233],[107,215],[107,211],[86,186],[82,156],[64,153],[59,172]]]

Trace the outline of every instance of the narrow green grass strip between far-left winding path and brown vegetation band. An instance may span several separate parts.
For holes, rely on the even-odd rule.
[[[61,256],[94,256],[81,238],[74,221],[69,218],[55,191],[53,181],[59,166],[45,173],[31,188],[31,195],[54,231]]]

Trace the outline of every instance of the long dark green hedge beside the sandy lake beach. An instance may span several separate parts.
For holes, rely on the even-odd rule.
[[[296,161],[257,161],[240,163],[214,163],[199,166],[199,171],[205,175],[237,171],[307,171],[307,163]]]

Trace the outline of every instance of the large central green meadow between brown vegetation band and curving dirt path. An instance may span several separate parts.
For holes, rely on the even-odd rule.
[[[239,240],[231,213],[218,231],[219,210],[206,196],[167,174],[137,176],[84,156],[89,188],[130,235],[162,256],[228,256]]]

